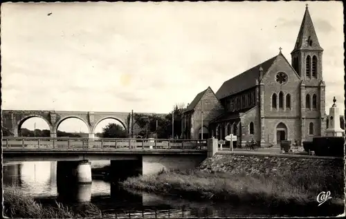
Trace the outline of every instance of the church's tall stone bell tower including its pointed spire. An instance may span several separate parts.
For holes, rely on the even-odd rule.
[[[301,140],[324,135],[325,123],[325,82],[322,78],[323,49],[313,27],[308,5],[297,40],[291,53],[292,66],[301,79],[300,122]]]

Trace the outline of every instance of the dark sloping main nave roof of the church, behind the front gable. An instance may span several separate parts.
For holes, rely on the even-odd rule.
[[[276,57],[277,55],[224,82],[216,93],[217,99],[222,99],[256,86],[256,81],[260,77],[260,68],[262,67],[263,74],[265,74],[275,61]]]

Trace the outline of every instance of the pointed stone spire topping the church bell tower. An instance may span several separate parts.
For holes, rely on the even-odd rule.
[[[302,24],[300,25],[297,41],[295,41],[295,46],[292,53],[296,50],[303,49],[323,50],[322,47],[320,47],[320,43],[318,42],[315,28],[313,27],[313,22],[310,17],[308,5],[305,8]]]

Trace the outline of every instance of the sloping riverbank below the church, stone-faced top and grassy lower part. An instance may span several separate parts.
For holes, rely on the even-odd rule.
[[[330,191],[332,199],[324,207],[343,209],[344,178],[339,164],[285,159],[289,158],[215,155],[193,171],[161,171],[128,178],[121,186],[266,207],[317,207],[318,193]]]

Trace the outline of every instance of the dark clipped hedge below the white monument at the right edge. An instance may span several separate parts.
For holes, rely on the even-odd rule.
[[[344,137],[313,137],[313,147],[318,156],[344,156]]]

